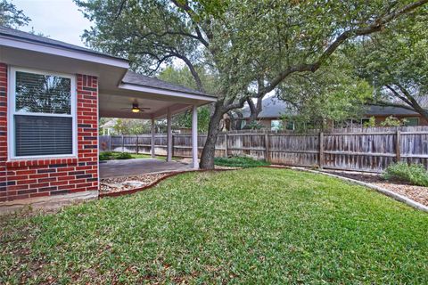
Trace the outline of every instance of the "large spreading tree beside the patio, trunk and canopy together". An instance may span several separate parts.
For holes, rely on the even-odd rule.
[[[174,59],[216,75],[202,168],[214,167],[219,122],[292,74],[315,72],[338,47],[404,18],[428,0],[75,0],[95,26],[89,45],[128,57],[150,73]]]

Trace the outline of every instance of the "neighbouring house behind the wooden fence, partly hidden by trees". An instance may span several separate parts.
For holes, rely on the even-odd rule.
[[[281,119],[284,114],[290,112],[289,105],[287,102],[279,100],[276,96],[269,96],[262,101],[262,110],[258,116],[258,122],[261,126],[270,128],[271,130],[278,130],[283,126],[283,120]],[[243,122],[242,126],[249,121],[250,108],[248,105],[243,107]],[[399,107],[382,107],[382,106],[367,106],[364,115],[359,120],[352,120],[352,124],[355,126],[361,126],[366,123],[369,118],[374,117],[377,125],[381,124],[388,117],[395,117],[399,119],[405,118],[407,120],[407,126],[428,126],[428,121],[423,118],[419,113],[412,110],[407,110]],[[292,122],[289,122],[287,129],[294,129]]]

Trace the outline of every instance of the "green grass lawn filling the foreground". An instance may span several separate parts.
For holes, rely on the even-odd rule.
[[[428,215],[289,169],[0,218],[0,283],[428,283]]]

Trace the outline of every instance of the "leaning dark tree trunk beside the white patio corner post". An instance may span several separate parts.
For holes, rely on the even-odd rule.
[[[210,118],[210,125],[208,126],[207,141],[203,146],[202,155],[201,155],[201,164],[202,169],[214,169],[214,157],[216,154],[216,142],[217,135],[219,132],[218,126],[221,119],[223,118],[223,102],[216,102],[214,112]]]

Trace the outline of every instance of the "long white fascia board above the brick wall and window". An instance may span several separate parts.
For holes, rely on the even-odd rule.
[[[114,59],[108,56],[91,54],[90,52],[85,53],[83,51],[82,52],[72,51],[70,49],[63,48],[63,47],[53,47],[49,45],[35,44],[29,41],[12,39],[9,37],[1,37],[1,38],[2,38],[2,42],[0,45],[4,45],[4,46],[10,46],[13,48],[29,50],[37,53],[53,54],[53,55],[68,57],[68,58],[72,58],[80,61],[96,62],[96,63],[111,65],[111,66],[115,66],[123,69],[129,68],[129,63],[126,60]]]

